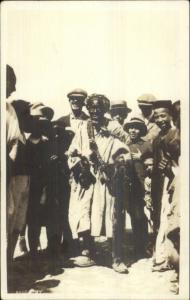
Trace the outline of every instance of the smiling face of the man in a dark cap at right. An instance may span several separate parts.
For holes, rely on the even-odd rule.
[[[155,123],[162,131],[170,128],[171,116],[167,108],[157,108],[154,110]]]

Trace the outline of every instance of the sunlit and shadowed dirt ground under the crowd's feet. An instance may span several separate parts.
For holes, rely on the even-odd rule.
[[[41,234],[41,246],[46,247],[44,229]],[[125,262],[129,266],[128,274],[114,272],[111,267],[111,252],[105,239],[96,241],[99,264],[88,268],[64,267],[62,274],[48,274],[48,261],[45,251],[40,251],[40,265],[33,270],[29,266],[27,255],[21,256],[17,245],[14,270],[8,274],[8,286],[11,293],[52,293],[61,294],[61,299],[179,299],[171,290],[175,283],[170,279],[173,270],[152,272],[152,259],[134,262],[130,231],[126,236]],[[71,260],[71,262],[74,261]]]

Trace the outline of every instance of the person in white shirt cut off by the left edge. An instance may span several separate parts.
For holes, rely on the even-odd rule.
[[[9,65],[6,66],[6,97],[16,90],[16,76]],[[25,136],[20,128],[15,108],[6,103],[6,163],[7,163],[7,262],[12,266],[14,250],[25,222],[27,209],[27,191],[29,187],[28,176],[15,176],[14,165],[18,157],[18,147],[25,147]],[[18,171],[18,170],[16,170]],[[22,213],[20,214],[20,206]]]

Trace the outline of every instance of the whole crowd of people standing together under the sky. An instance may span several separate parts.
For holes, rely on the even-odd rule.
[[[7,66],[7,98],[15,84]],[[110,242],[113,270],[128,273],[127,212],[135,260],[153,257],[153,271],[178,272],[180,101],[143,94],[133,115],[126,101],[102,94],[74,89],[67,97],[71,113],[53,121],[43,103],[7,101],[8,267],[17,241],[27,251],[27,233],[37,268],[45,226],[51,273],[61,271],[62,253],[81,267],[96,264],[100,236]]]

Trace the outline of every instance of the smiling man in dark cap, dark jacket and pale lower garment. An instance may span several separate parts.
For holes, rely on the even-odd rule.
[[[168,249],[166,230],[167,213],[170,210],[169,186],[173,181],[172,167],[178,164],[180,155],[180,138],[176,128],[171,127],[172,103],[160,100],[154,103],[154,119],[160,128],[159,135],[153,142],[154,165],[152,172],[152,200],[155,245],[154,271],[166,270],[168,266]]]

